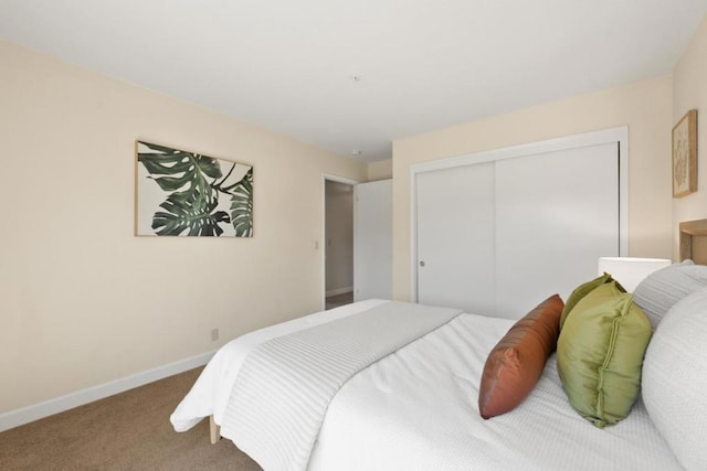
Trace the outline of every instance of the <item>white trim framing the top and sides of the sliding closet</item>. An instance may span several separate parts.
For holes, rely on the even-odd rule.
[[[450,157],[410,167],[410,299],[418,302],[418,174],[474,163],[576,149],[602,143],[619,143],[619,255],[629,255],[629,127],[584,132],[471,154]]]

